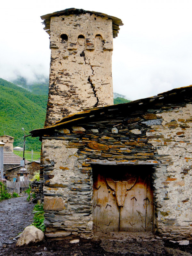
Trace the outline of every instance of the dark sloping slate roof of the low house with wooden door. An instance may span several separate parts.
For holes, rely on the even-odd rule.
[[[73,125],[73,123],[77,123],[79,121],[85,121],[86,122],[92,122],[94,119],[102,117],[103,114],[109,114],[109,113],[115,113],[115,112],[124,112],[125,115],[131,114],[136,110],[150,107],[150,105],[163,102],[164,100],[174,99],[176,101],[184,101],[185,97],[190,98],[191,100],[188,100],[187,103],[192,103],[192,85],[180,87],[176,89],[172,89],[167,92],[159,93],[156,96],[148,97],[140,100],[134,100],[131,102],[123,103],[123,104],[117,104],[117,105],[110,105],[100,108],[91,108],[84,110],[82,112],[78,112],[69,116],[66,116],[62,118],[60,121],[57,121],[55,124],[51,126],[44,127],[42,129],[36,129],[31,131],[32,137],[40,137],[43,134],[47,134],[51,131],[54,131],[55,128],[58,126],[64,127],[70,123],[70,125]]]

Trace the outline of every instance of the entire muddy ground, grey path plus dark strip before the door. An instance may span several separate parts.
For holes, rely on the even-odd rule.
[[[192,256],[191,244],[163,242],[151,236],[136,238],[122,236],[97,236],[93,240],[80,239],[70,244],[69,240],[44,241],[41,244],[16,247],[13,238],[33,221],[34,204],[29,204],[27,194],[0,202],[0,256]],[[146,234],[147,235],[147,234]],[[110,237],[109,237],[110,236]]]

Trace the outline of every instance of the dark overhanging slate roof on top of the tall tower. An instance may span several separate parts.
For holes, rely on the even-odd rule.
[[[94,11],[85,11],[83,9],[76,9],[76,8],[68,8],[68,9],[65,9],[62,11],[48,13],[48,14],[41,16],[41,19],[44,20],[44,22],[42,22],[45,25],[44,30],[46,30],[46,32],[48,34],[50,34],[50,21],[51,21],[52,16],[81,14],[81,13],[90,13],[90,14],[95,14],[100,17],[107,17],[107,18],[111,19],[113,22],[113,37],[114,38],[117,37],[117,34],[119,33],[119,31],[118,31],[120,29],[119,26],[123,26],[123,22],[121,19],[118,19],[116,17],[110,16],[105,13],[94,12]]]

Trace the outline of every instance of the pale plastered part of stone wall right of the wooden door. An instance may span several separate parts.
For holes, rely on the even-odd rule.
[[[192,105],[157,114],[161,125],[151,126],[147,138],[157,149],[158,231],[180,238],[192,235]]]

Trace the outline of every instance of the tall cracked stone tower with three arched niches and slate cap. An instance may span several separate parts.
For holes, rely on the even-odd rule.
[[[70,8],[41,16],[50,35],[45,126],[85,108],[113,105],[111,57],[118,18]]]

